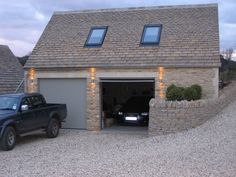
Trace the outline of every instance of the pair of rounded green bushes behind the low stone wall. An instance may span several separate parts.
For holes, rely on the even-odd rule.
[[[181,100],[199,100],[202,97],[201,86],[194,84],[191,87],[177,87],[176,85],[170,85],[166,90],[166,99],[169,101],[181,101]]]

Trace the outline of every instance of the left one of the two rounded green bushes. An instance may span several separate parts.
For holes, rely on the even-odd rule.
[[[175,85],[171,85],[167,88],[166,98],[169,101],[180,101],[183,100],[183,90],[182,87],[176,87]]]

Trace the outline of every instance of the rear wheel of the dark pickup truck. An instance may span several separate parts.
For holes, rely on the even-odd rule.
[[[56,138],[59,134],[59,129],[59,121],[57,119],[51,119],[46,130],[47,137]]]

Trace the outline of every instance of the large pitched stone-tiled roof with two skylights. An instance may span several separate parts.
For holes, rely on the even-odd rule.
[[[141,46],[146,24],[162,24],[159,46]],[[84,47],[108,26],[102,47]],[[217,4],[55,12],[26,68],[218,67]]]

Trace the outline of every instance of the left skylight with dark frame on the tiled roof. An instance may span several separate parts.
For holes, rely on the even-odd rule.
[[[106,32],[107,27],[92,27],[85,46],[102,46]]]

